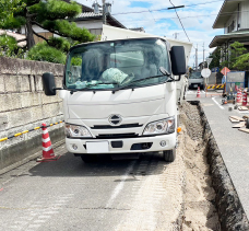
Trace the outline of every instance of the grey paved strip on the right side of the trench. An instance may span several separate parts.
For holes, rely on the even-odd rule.
[[[237,190],[240,203],[249,218],[249,134],[232,128],[229,116],[249,115],[249,111],[228,111],[228,105],[221,105],[222,97],[197,97],[193,92],[187,93],[187,101],[200,101],[211,126],[213,136],[226,164],[232,182]]]

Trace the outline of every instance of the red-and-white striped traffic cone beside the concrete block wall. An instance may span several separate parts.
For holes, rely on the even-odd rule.
[[[57,161],[59,159],[59,155],[55,155],[46,124],[43,124],[42,128],[43,128],[43,158],[38,158],[37,162]]]

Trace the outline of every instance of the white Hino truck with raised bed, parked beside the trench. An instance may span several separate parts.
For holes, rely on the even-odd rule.
[[[175,160],[182,97],[177,82],[186,73],[192,45],[174,43],[178,46],[164,37],[105,26],[100,42],[70,49],[62,89],[56,88],[52,73],[43,74],[45,94],[59,90],[63,100],[69,152],[84,162],[97,154],[154,151],[163,152],[167,162]]]

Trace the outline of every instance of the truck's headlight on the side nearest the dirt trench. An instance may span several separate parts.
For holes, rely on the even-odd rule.
[[[175,132],[175,118],[169,117],[162,120],[150,123],[143,135],[173,134]]]

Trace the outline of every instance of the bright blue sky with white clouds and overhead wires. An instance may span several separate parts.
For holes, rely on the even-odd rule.
[[[76,0],[78,2],[91,7],[96,0]],[[97,0],[102,4],[102,0]],[[107,0],[110,2],[111,14],[126,27],[144,27],[146,33],[188,41],[175,10],[159,10],[173,7],[169,0]],[[213,50],[209,45],[215,35],[221,35],[224,30],[213,30],[212,25],[224,0],[171,0],[175,5],[186,5],[178,9],[177,13],[181,19],[185,30],[193,43],[199,47],[199,62],[203,60],[203,44],[205,57]],[[211,3],[208,3],[211,2]],[[188,7],[189,5],[189,7]],[[145,12],[141,12],[145,11]],[[131,13],[141,12],[141,13]],[[121,14],[124,13],[124,14]],[[194,62],[194,50],[190,57],[189,65]]]

